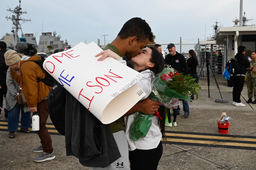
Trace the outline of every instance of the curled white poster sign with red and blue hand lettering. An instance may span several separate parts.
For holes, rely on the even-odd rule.
[[[95,55],[101,51],[94,42],[81,42],[47,57],[44,69],[103,124],[109,124],[129,111],[145,92],[136,84],[142,74],[111,57],[97,61]]]

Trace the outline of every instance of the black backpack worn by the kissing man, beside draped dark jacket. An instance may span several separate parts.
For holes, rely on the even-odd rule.
[[[49,115],[56,130],[65,136],[66,89],[55,81],[48,96]]]

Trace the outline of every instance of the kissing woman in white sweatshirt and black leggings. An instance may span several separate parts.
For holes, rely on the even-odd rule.
[[[116,53],[106,50],[100,54],[104,54],[98,60],[105,57],[120,58]],[[140,72],[144,76],[137,82],[138,86],[147,94],[141,100],[147,98],[152,92],[153,81],[156,76],[164,68],[164,59],[156,48],[144,48],[143,52],[131,59],[134,70]],[[139,112],[124,117],[125,135],[129,145],[129,160],[131,169],[157,169],[158,162],[163,153],[163,145],[161,139],[166,141],[165,136],[165,107],[160,106],[159,114],[163,119],[153,116],[152,124],[145,138],[137,141],[130,139],[131,124]],[[142,163],[144,162],[144,163]]]

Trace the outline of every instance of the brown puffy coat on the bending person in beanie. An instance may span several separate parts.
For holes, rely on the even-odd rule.
[[[29,62],[40,59],[41,57],[37,55],[27,60],[20,61],[20,75],[15,71],[10,73],[13,79],[21,84],[29,107],[37,107],[37,103],[44,100],[51,90],[51,87],[47,86],[45,83],[37,82],[37,78],[45,78],[45,71],[35,62]]]

